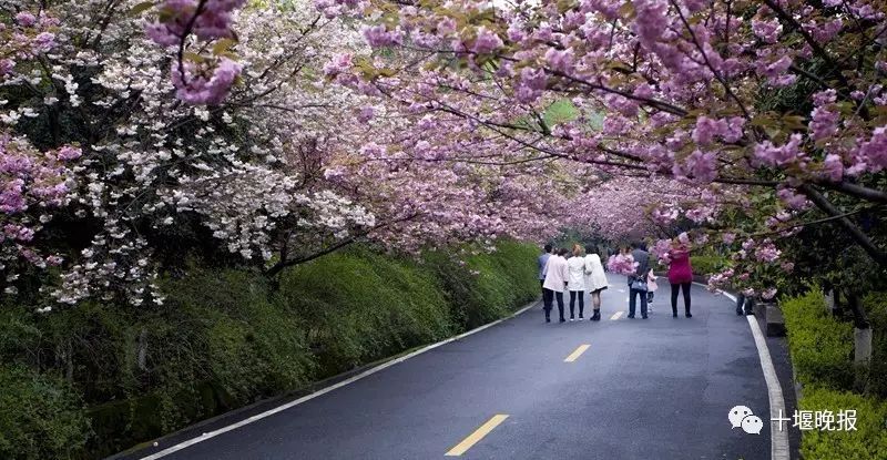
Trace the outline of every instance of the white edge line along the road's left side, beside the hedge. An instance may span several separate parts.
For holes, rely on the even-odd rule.
[[[354,384],[357,380],[360,380],[360,379],[363,379],[365,377],[369,377],[369,376],[371,376],[371,375],[374,375],[374,374],[376,374],[376,372],[378,372],[380,370],[387,369],[387,368],[389,368],[389,367],[391,367],[391,366],[394,366],[396,364],[404,362],[407,359],[412,358],[414,356],[421,355],[421,354],[424,354],[426,351],[432,350],[432,349],[435,349],[437,347],[440,347],[442,345],[447,345],[449,343],[459,340],[460,338],[465,338],[465,337],[468,337],[468,336],[470,336],[472,334],[480,333],[483,329],[493,327],[493,326],[498,325],[499,323],[504,321],[506,319],[511,319],[511,318],[513,318],[513,317],[516,317],[516,316],[529,310],[530,308],[537,306],[537,304],[539,304],[539,300],[536,300],[536,301],[531,303],[530,305],[528,305],[528,306],[514,311],[511,316],[507,316],[504,318],[497,319],[497,320],[495,320],[495,321],[492,321],[490,324],[487,324],[487,325],[480,326],[478,328],[471,329],[471,330],[469,330],[467,333],[462,333],[462,334],[460,334],[458,336],[450,337],[448,339],[438,341],[437,344],[431,344],[431,345],[429,345],[429,346],[427,346],[425,348],[420,348],[420,349],[418,349],[416,351],[412,351],[412,352],[410,352],[408,355],[404,355],[404,356],[401,356],[401,357],[399,357],[397,359],[392,359],[390,361],[380,364],[380,365],[378,365],[378,366],[376,366],[376,367],[374,367],[371,369],[367,369],[366,371],[360,372],[360,374],[358,374],[358,375],[356,375],[356,376],[354,376],[351,378],[348,378],[346,380],[343,380],[343,381],[340,381],[340,382],[338,382],[336,385],[332,385],[332,386],[326,387],[324,389],[317,390],[317,391],[315,391],[315,392],[313,392],[310,395],[303,396],[302,398],[298,398],[298,399],[296,399],[294,401],[289,401],[289,402],[287,402],[285,405],[277,406],[274,409],[266,410],[266,411],[264,411],[262,413],[256,413],[255,416],[252,416],[252,417],[249,417],[247,419],[241,420],[241,421],[238,421],[236,423],[228,425],[227,427],[222,427],[222,428],[220,428],[217,430],[205,432],[202,436],[198,436],[196,438],[192,438],[192,439],[188,439],[187,441],[183,441],[183,442],[180,442],[180,443],[177,443],[175,446],[167,447],[166,449],[163,449],[160,452],[152,453],[152,454],[150,454],[147,457],[142,457],[141,460],[156,460],[156,459],[166,457],[170,453],[177,452],[177,451],[180,451],[182,449],[188,448],[188,447],[194,446],[194,444],[196,444],[198,442],[203,442],[203,441],[205,441],[205,440],[207,440],[210,438],[215,438],[218,435],[226,433],[226,432],[228,432],[231,430],[241,428],[241,427],[243,427],[245,425],[249,425],[249,423],[252,423],[252,422],[254,422],[256,420],[262,420],[262,419],[264,419],[264,418],[266,418],[268,416],[273,416],[273,415],[275,415],[277,412],[282,412],[282,411],[286,410],[286,409],[289,409],[292,407],[298,406],[298,405],[300,405],[303,402],[309,401],[309,400],[312,400],[314,398],[317,398],[319,396],[326,395],[326,393],[328,393],[328,392],[330,392],[333,390],[339,389],[339,388],[341,388],[341,387],[344,387],[346,385]]]

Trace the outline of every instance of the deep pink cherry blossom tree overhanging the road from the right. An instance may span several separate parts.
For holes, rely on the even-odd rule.
[[[482,132],[501,145],[486,161],[715,185],[716,200],[669,204],[656,219],[730,234],[718,209],[750,215],[732,247],[748,255],[752,238],[753,257],[776,266],[779,238],[836,224],[887,264],[854,218],[887,200],[881,2],[457,0],[363,13],[367,42],[400,59],[356,62],[354,86],[424,113],[426,131]],[[572,114],[552,122],[558,104]],[[715,207],[717,184],[730,197]],[[778,202],[762,211],[756,195]]]

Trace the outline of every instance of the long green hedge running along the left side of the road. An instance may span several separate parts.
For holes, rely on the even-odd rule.
[[[277,283],[192,264],[164,276],[161,307],[4,306],[0,458],[104,457],[500,318],[538,295],[537,256],[513,242],[465,263],[357,247]]]

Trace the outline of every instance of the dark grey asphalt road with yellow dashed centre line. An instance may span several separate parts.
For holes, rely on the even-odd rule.
[[[436,459],[508,416],[467,459],[767,459],[767,391],[732,303],[693,286],[693,318],[650,319],[610,275],[603,319],[544,324],[541,306],[166,459]],[[587,298],[587,305],[590,299]],[[568,307],[569,309],[569,307]],[[569,314],[568,314],[569,315]],[[574,361],[564,362],[582,345]],[[761,435],[732,429],[747,406]],[[500,418],[501,419],[501,418]]]

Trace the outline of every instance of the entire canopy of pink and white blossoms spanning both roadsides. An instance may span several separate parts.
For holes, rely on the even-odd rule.
[[[568,226],[689,231],[750,294],[806,225],[883,267],[884,8],[4,1],[6,289],[159,303],[181,251],[275,275]]]

